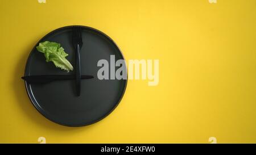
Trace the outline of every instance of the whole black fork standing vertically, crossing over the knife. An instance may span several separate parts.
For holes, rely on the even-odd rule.
[[[82,48],[82,34],[81,34],[81,27],[74,26],[73,27],[73,35],[72,35],[72,44],[73,48],[76,51],[76,66],[75,66],[75,72],[76,72],[76,90],[77,95],[80,96],[81,91],[81,64],[80,64],[80,52]]]

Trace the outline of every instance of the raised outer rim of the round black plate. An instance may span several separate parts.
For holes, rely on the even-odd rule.
[[[60,27],[60,28],[56,28],[55,30],[52,30],[51,32],[48,32],[45,36],[43,36],[35,45],[34,47],[32,48],[30,54],[28,55],[28,58],[27,58],[27,61],[26,61],[26,65],[25,65],[25,69],[24,69],[24,76],[26,76],[26,73],[28,72],[27,71],[27,66],[28,66],[28,60],[30,59],[31,55],[32,55],[32,51],[35,50],[36,48],[36,45],[38,45],[39,43],[42,42],[42,40],[44,40],[47,36],[51,35],[52,33],[55,33],[57,31],[60,31],[60,30],[63,30],[65,28],[72,28],[74,26],[78,26],[78,27],[83,27],[83,28],[87,28],[89,30],[92,30],[92,31],[95,31],[97,33],[100,33],[101,35],[105,36],[109,41],[111,41],[115,47],[118,49],[118,51],[120,52],[123,60],[125,60],[125,69],[126,69],[126,73],[127,73],[127,63],[126,63],[126,59],[125,57],[123,56],[123,53],[121,51],[121,49],[118,47],[118,45],[115,43],[115,41],[109,37],[108,35],[106,35],[106,33],[100,31],[100,30],[97,30],[96,28],[93,28],[93,27],[89,27],[89,26],[82,26],[82,25],[69,25],[69,26],[64,26],[64,27]],[[124,80],[124,79],[123,79]],[[123,95],[125,94],[125,91],[126,91],[126,87],[127,87],[127,83],[128,83],[128,74],[126,74],[126,79],[124,80],[125,81],[125,86],[123,88],[123,92],[122,92],[122,95],[121,97],[119,98],[118,102],[115,103],[115,106],[112,108],[112,110],[110,110],[109,112],[107,112],[104,116],[102,116],[101,118],[97,119],[97,120],[94,120],[93,122],[89,122],[89,123],[81,123],[81,124],[65,124],[65,123],[60,123],[60,122],[57,122],[55,119],[52,119],[51,116],[49,116],[46,112],[44,112],[44,110],[42,108],[40,108],[38,102],[36,101],[35,97],[34,97],[34,94],[32,93],[31,89],[29,88],[31,85],[29,83],[27,83],[26,81],[24,81],[24,84],[25,84],[25,87],[26,87],[26,92],[27,92],[27,95],[28,95],[28,98],[30,99],[30,102],[32,103],[32,105],[36,108],[36,110],[44,116],[44,118],[50,120],[51,122],[53,123],[56,123],[56,124],[59,124],[59,125],[63,125],[65,127],[84,127],[84,126],[87,126],[87,125],[91,125],[91,124],[94,124],[94,123],[97,123],[97,122],[100,122],[102,119],[106,118],[107,116],[109,116],[114,110],[115,108],[117,108],[117,106],[119,105],[119,103],[121,102],[122,98],[123,98]],[[35,103],[36,102],[36,103]]]

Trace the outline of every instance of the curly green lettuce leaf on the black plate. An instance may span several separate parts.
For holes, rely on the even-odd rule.
[[[46,62],[52,61],[57,68],[64,69],[67,72],[73,70],[73,66],[65,58],[68,54],[64,52],[64,48],[61,47],[59,43],[44,41],[43,43],[39,43],[36,49],[44,53]]]

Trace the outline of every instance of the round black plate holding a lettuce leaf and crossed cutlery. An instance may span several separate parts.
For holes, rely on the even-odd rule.
[[[110,55],[115,55],[115,60],[124,60],[124,58],[110,37],[94,28],[81,27],[84,39],[81,49],[81,74],[92,75],[94,78],[82,79],[80,97],[76,96],[74,80],[56,81],[44,85],[25,82],[28,97],[35,108],[47,119],[70,127],[89,125],[105,118],[117,107],[127,84],[127,79],[100,80],[97,78],[98,69],[101,68],[97,66],[98,60],[105,59],[110,62]],[[60,43],[69,55],[66,58],[75,66],[72,26],[62,27],[48,33],[35,47],[47,40]],[[35,47],[28,56],[25,76],[75,74],[74,71],[67,73],[56,68],[52,62],[47,63],[44,55]],[[125,68],[127,72],[127,66]]]

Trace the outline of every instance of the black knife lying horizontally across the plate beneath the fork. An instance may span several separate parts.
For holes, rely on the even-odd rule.
[[[49,83],[52,81],[60,81],[67,79],[75,79],[75,75],[40,75],[40,76],[24,76],[22,79],[28,83]],[[93,76],[81,76],[81,79],[89,79]]]

